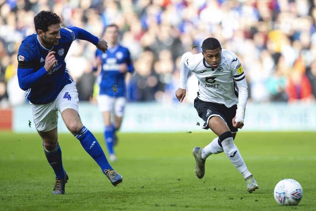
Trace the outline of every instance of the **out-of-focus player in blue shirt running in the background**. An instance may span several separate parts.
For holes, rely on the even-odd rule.
[[[98,107],[104,121],[104,140],[111,161],[117,161],[113,146],[118,142],[116,131],[122,124],[126,101],[125,78],[133,73],[130,52],[126,47],[118,44],[119,28],[111,24],[105,28],[104,38],[107,40],[108,50],[103,53],[99,49],[95,52],[94,71],[100,68],[97,83],[100,86]],[[112,114],[112,121],[111,121]]]

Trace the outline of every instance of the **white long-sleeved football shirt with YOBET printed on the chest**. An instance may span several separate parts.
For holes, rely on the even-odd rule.
[[[188,70],[198,79],[197,97],[200,100],[224,104],[227,108],[238,104],[236,118],[243,122],[248,90],[245,73],[235,53],[222,49],[222,58],[216,68],[206,63],[202,53],[184,53],[180,63],[181,89],[186,88]]]

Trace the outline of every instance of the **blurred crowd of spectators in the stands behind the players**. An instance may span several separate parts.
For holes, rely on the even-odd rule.
[[[217,38],[243,65],[252,102],[313,102],[316,96],[316,0],[0,0],[0,107],[25,103],[17,81],[17,50],[35,33],[33,17],[52,10],[62,27],[96,36],[112,23],[128,47],[135,73],[131,102],[174,102],[179,61]],[[80,100],[93,101],[95,46],[75,40],[66,57]],[[187,102],[196,96],[189,74]]]

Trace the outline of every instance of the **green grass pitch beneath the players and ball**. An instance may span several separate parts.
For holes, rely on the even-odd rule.
[[[65,195],[52,195],[55,176],[37,134],[0,134],[0,210],[315,210],[315,133],[238,133],[239,147],[259,190],[249,194],[225,154],[211,155],[197,179],[191,149],[214,133],[119,134],[124,182],[113,187],[72,135],[60,134],[70,180]],[[105,148],[102,134],[96,134]],[[293,178],[303,187],[301,203],[278,206],[276,183]]]

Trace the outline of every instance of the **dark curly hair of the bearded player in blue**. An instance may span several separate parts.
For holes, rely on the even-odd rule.
[[[53,13],[52,11],[42,10],[34,17],[36,33],[39,29],[43,32],[47,32],[48,27],[56,23],[62,23],[62,20],[56,13]]]

